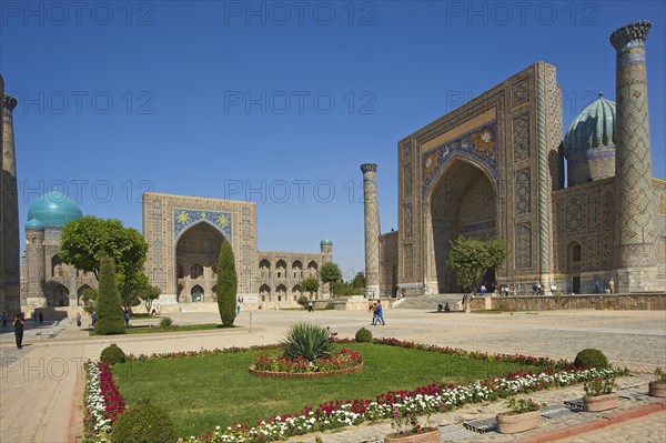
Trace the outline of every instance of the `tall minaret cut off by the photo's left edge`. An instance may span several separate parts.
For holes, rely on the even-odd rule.
[[[19,195],[12,111],[18,101],[2,95],[2,258],[8,311],[20,311]]]

